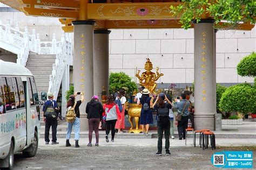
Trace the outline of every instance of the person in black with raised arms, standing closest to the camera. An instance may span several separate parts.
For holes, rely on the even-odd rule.
[[[165,102],[165,100],[167,102]],[[165,96],[164,93],[160,93],[157,97],[156,102],[153,104],[153,108],[157,110],[157,133],[158,133],[158,152],[157,155],[162,155],[162,145],[163,145],[163,132],[165,135],[165,153],[170,155],[170,117],[169,114],[172,109],[170,101]]]

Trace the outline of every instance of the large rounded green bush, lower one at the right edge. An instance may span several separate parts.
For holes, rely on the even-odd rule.
[[[256,88],[243,83],[226,89],[220,99],[219,108],[226,112],[256,112]]]

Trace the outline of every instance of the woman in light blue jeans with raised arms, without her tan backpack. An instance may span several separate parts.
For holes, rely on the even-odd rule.
[[[79,132],[80,132],[80,111],[79,111],[79,106],[84,102],[84,94],[82,92],[80,92],[81,95],[81,100],[76,101],[76,96],[78,94],[76,93],[75,95],[70,95],[69,96],[69,101],[66,104],[66,108],[68,107],[73,107],[73,105],[75,105],[75,113],[76,113],[76,119],[74,122],[68,122],[68,129],[66,132],[66,146],[71,146],[69,139],[70,139],[70,135],[72,132],[72,127],[74,126],[74,133],[75,133],[75,147],[79,147],[78,141],[79,141]]]

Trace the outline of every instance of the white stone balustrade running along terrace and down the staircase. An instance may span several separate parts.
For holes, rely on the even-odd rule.
[[[17,54],[17,63],[20,65],[26,65],[29,52],[56,54],[50,75],[49,91],[52,91],[53,95],[57,97],[66,65],[73,65],[72,39],[70,34],[64,32],[60,41],[56,40],[55,33],[52,37],[51,41],[41,41],[35,29],[32,29],[30,35],[27,26],[25,26],[24,32],[21,32],[18,23],[16,23],[15,28],[12,28],[10,19],[5,25],[0,19],[0,48]]]

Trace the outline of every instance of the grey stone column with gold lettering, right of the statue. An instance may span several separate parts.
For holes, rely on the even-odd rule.
[[[194,23],[194,126],[215,130],[214,20]]]

